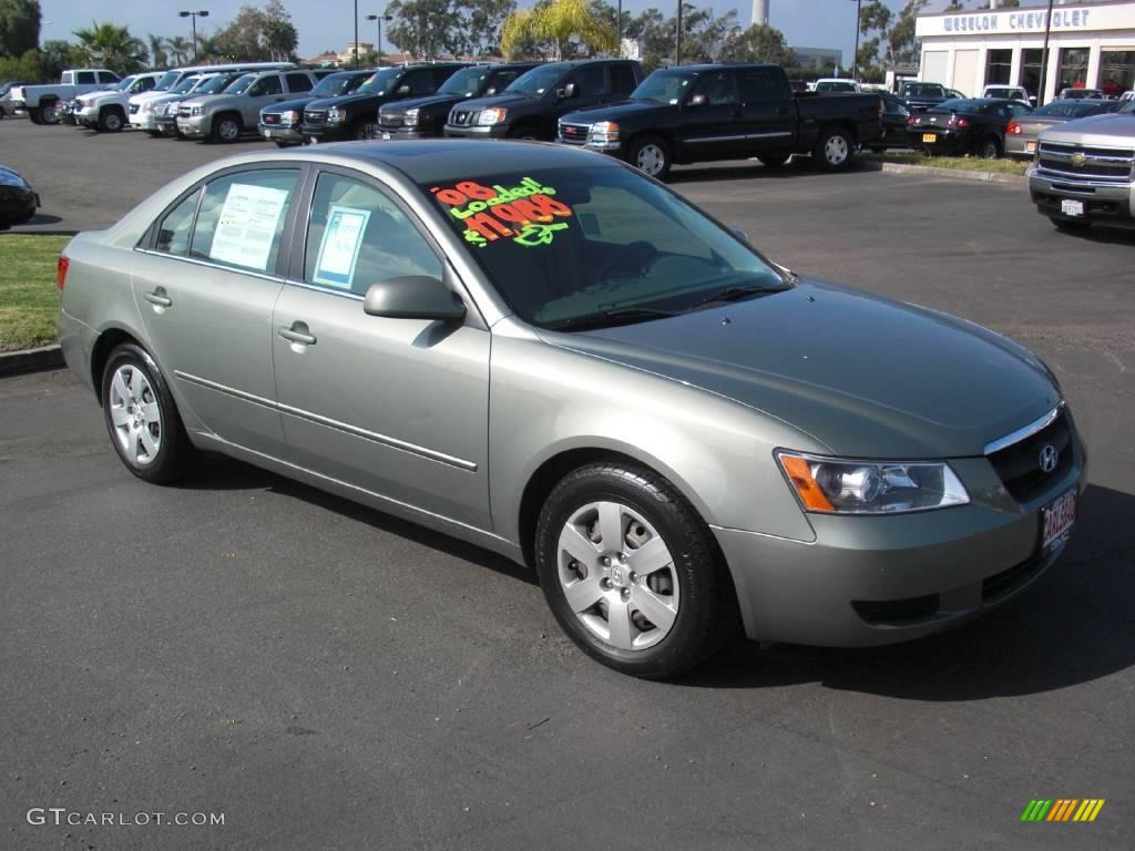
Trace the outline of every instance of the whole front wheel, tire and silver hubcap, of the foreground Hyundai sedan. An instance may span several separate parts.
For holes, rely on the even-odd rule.
[[[738,623],[709,528],[667,479],[630,463],[590,464],[553,489],[536,565],[563,630],[625,674],[676,676]]]

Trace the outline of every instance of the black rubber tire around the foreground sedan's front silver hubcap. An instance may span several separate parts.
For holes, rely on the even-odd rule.
[[[673,598],[676,614],[669,632],[645,649],[620,649],[592,632],[585,624],[583,616],[577,615],[572,609],[564,591],[564,581],[561,580],[561,570],[569,571],[572,570],[571,565],[578,565],[566,555],[563,556],[563,565],[561,564],[561,533],[581,509],[591,503],[602,502],[617,503],[640,515],[657,531],[672,558],[667,566],[651,573],[651,576],[665,574],[663,579],[667,583],[676,581],[676,589],[670,585],[671,593],[676,592]],[[634,519],[625,517],[622,513],[620,523],[621,530],[624,530],[620,533],[624,538],[614,549],[627,549],[631,561],[621,561],[616,555],[614,562],[619,562],[619,565],[615,567],[605,568],[597,562],[594,570],[607,571],[615,576],[617,567],[621,571],[617,581],[627,583],[623,585],[627,590],[621,591],[608,580],[594,576],[596,583],[607,584],[602,591],[605,597],[596,604],[597,614],[587,614],[587,617],[591,623],[600,623],[595,618],[606,617],[602,608],[598,608],[607,605],[606,600],[612,600],[613,605],[619,605],[620,600],[629,600],[622,604],[625,607],[622,610],[628,613],[632,622],[636,615],[639,617],[633,627],[628,627],[631,633],[638,632],[634,637],[638,640],[649,637],[651,625],[647,621],[647,630],[641,629],[645,616],[640,609],[634,609],[634,598],[631,597],[645,583],[630,572],[634,564],[630,536],[636,532],[641,534],[644,526],[636,526]],[[603,549],[602,538],[598,544],[590,546],[596,547],[598,554]],[[536,567],[548,606],[572,641],[588,656],[632,676],[678,676],[713,656],[735,633],[740,623],[735,591],[705,521],[666,478],[628,462],[612,460],[589,464],[570,473],[552,490],[536,529]],[[658,591],[651,587],[650,591],[665,595],[664,589]],[[608,608],[607,612],[609,610]],[[630,643],[633,644],[633,641]]]

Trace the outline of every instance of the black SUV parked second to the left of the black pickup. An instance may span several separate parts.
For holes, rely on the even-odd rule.
[[[434,138],[445,129],[449,110],[470,98],[488,98],[503,92],[536,62],[474,65],[462,68],[437,90],[437,94],[411,98],[380,107],[378,133],[381,138]]]

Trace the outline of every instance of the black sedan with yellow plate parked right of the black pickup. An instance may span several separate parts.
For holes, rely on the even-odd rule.
[[[995,159],[1004,153],[1009,121],[1033,111],[1020,101],[1004,98],[961,98],[943,101],[907,120],[907,144],[928,153]]]

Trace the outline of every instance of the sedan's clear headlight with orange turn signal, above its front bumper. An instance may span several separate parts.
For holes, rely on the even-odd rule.
[[[969,503],[944,462],[844,461],[784,450],[776,460],[807,512],[902,514]]]

